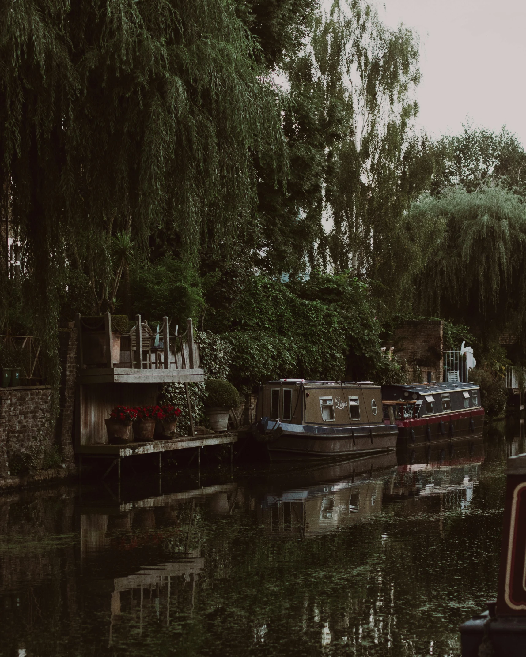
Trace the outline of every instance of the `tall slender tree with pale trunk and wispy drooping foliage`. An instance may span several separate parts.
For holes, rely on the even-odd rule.
[[[347,97],[347,131],[334,152],[327,185],[333,217],[329,252],[335,267],[374,275],[385,240],[398,230],[419,177],[418,37],[391,30],[358,0],[337,3],[324,26],[327,60]]]

